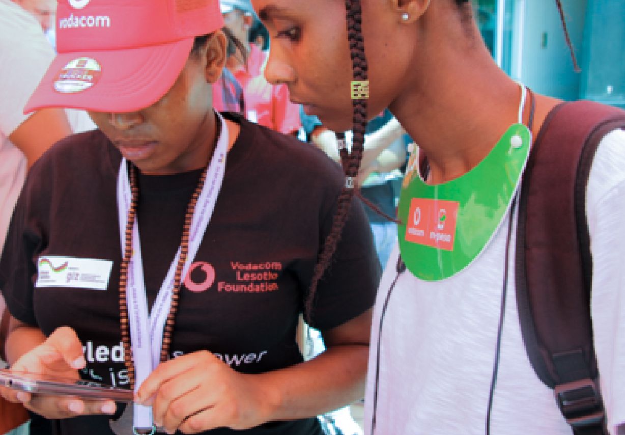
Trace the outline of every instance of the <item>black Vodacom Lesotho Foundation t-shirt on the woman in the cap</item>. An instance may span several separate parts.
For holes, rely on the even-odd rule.
[[[207,349],[237,371],[258,373],[302,361],[297,317],[343,178],[321,151],[234,119],[241,134],[227,155],[197,266],[181,288],[171,356]],[[116,386],[128,385],[118,309],[120,162],[119,152],[97,130],[51,148],[29,173],[0,260],[0,288],[12,315],[46,335],[61,325],[73,327],[88,361],[83,377]],[[178,248],[199,172],[139,177],[138,222],[150,300]],[[35,287],[39,259],[53,255],[111,260],[106,290]],[[214,279],[207,272],[211,267]],[[319,284],[312,325],[331,329],[371,307],[379,273],[369,225],[354,202]],[[106,419],[79,417],[61,424],[64,434],[109,435]],[[321,432],[316,419],[305,419],[243,433]]]

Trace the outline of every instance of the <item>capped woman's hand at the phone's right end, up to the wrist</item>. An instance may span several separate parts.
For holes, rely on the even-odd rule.
[[[160,364],[141,384],[136,401],[152,406],[154,423],[169,434],[258,426],[274,402],[255,375],[234,371],[208,351]]]

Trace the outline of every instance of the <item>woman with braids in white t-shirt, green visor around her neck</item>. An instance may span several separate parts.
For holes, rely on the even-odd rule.
[[[531,138],[558,101],[497,68],[468,1],[252,4],[272,38],[267,79],[286,83],[292,100],[332,130],[354,130],[352,150],[342,150],[348,186],[364,123],[383,108],[419,146],[399,202],[399,247],[374,309],[366,432],[570,434],[527,357],[513,277],[515,193]],[[613,130],[586,192],[592,327],[612,434],[625,422],[625,245],[614,243],[625,240],[624,188],[625,132]],[[581,426],[600,426],[601,415],[577,421],[576,432],[600,433]]]

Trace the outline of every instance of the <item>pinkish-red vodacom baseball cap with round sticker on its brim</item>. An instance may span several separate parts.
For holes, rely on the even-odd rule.
[[[194,38],[223,26],[218,0],[58,0],[58,55],[24,113],[153,105],[183,70]]]

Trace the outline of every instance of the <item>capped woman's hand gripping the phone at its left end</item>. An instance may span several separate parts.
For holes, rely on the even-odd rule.
[[[67,379],[79,379],[78,370],[86,366],[83,347],[76,332],[61,327],[42,344],[26,352],[11,366],[14,372],[45,374]],[[113,414],[116,405],[109,400],[83,400],[74,396],[47,396],[0,387],[2,397],[22,402],[27,409],[47,419],[62,419],[84,414]]]

